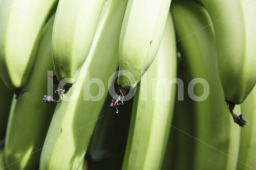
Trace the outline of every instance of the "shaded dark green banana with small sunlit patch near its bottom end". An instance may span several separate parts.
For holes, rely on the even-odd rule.
[[[53,70],[51,38],[54,15],[44,28],[34,67],[26,84],[30,90],[12,101],[5,141],[8,169],[36,169],[55,104],[41,102],[47,92],[47,71]]]

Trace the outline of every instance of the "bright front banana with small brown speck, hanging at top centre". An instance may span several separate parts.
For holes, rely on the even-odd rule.
[[[132,89],[154,61],[171,0],[129,0],[119,42],[118,84]]]

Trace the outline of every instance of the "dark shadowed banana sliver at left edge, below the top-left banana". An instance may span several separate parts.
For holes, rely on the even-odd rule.
[[[6,87],[0,78],[0,140],[5,136],[5,130],[12,102],[13,92]]]

